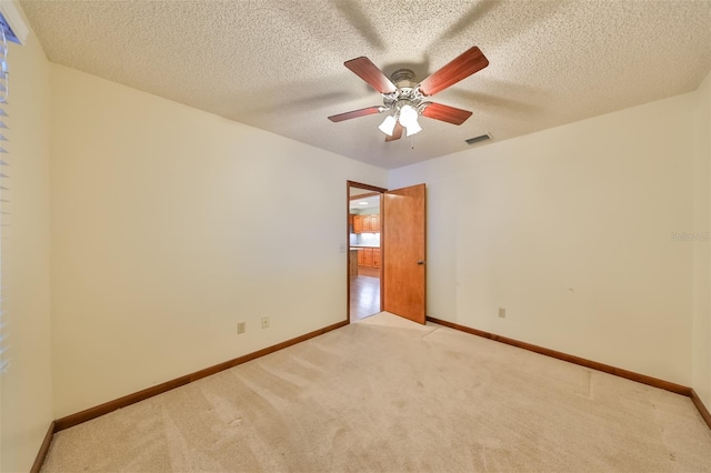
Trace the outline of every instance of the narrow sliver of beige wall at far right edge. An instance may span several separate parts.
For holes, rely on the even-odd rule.
[[[711,74],[695,95],[692,386],[711,409]]]

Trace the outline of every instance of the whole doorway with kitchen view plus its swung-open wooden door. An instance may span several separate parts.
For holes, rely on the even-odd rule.
[[[348,181],[348,322],[381,311],[425,323],[425,185]]]

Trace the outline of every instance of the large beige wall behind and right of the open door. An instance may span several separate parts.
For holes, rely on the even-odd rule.
[[[428,184],[428,314],[690,385],[694,104],[391,171]]]

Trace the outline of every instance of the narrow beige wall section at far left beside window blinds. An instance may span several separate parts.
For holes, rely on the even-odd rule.
[[[2,310],[10,366],[0,376],[0,470],[29,471],[52,422],[49,270],[49,63],[37,38],[10,44],[10,175],[3,185]],[[3,132],[4,134],[4,132]],[[3,158],[6,159],[6,158]],[[4,181],[4,180],[3,180]]]

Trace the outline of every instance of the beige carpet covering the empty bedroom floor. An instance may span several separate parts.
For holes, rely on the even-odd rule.
[[[382,313],[54,436],[44,472],[709,472],[688,397]]]

